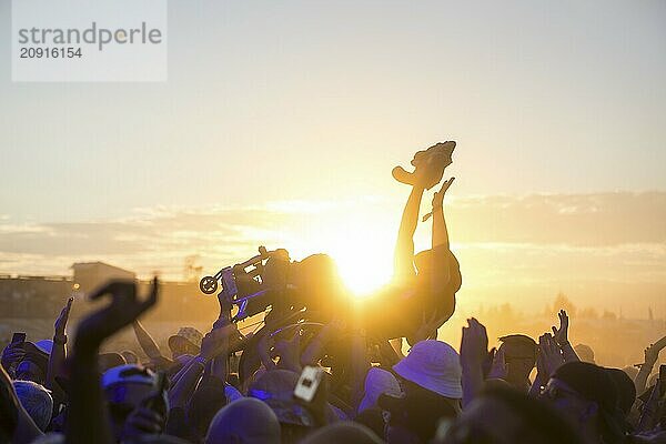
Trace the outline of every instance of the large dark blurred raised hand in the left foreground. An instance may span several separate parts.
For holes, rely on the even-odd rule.
[[[140,300],[134,281],[111,281],[90,295],[98,300],[105,294],[111,295],[111,303],[90,314],[79,323],[77,329],[77,352],[98,349],[107,337],[130,325],[143,312],[158,302],[158,279],[153,279],[150,294]]]

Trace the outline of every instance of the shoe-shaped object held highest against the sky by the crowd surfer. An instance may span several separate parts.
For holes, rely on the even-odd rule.
[[[455,149],[455,142],[440,142],[427,150],[414,154],[412,165],[414,172],[408,172],[402,167],[395,167],[392,171],[393,178],[408,185],[421,185],[426,190],[435,186],[444,175],[444,169],[452,163],[451,155]]]

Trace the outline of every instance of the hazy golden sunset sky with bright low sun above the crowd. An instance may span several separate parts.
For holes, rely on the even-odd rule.
[[[0,273],[180,279],[265,244],[370,290],[408,193],[391,169],[456,140],[465,303],[666,315],[665,22],[659,0],[181,0],[168,82],[12,83],[0,0]]]

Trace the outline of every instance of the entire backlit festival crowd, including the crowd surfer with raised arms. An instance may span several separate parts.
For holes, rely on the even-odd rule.
[[[103,303],[69,335],[73,299],[52,339],[14,333],[1,356],[0,443],[666,443],[666,366],[654,373],[666,337],[637,369],[602,367],[574,347],[564,310],[537,339],[515,332],[490,347],[472,317],[460,346],[436,340],[462,285],[444,219],[453,179],[442,182],[454,148],[394,169],[411,191],[394,279],[371,297],[353,301],[324,254],[264,250],[253,273],[236,266],[222,283],[212,329],[181,327],[168,354],[140,322],[157,279],[147,295],[130,281],[92,292]],[[431,249],[414,254],[428,219]],[[261,317],[252,332],[239,327],[250,315]],[[101,353],[125,327],[142,357]]]

